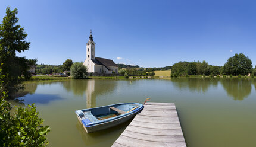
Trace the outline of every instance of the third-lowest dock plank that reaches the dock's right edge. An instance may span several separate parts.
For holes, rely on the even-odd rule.
[[[146,127],[127,126],[126,130],[148,135],[183,135],[181,129],[151,129]]]

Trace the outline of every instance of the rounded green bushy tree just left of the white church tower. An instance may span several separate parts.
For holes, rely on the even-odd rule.
[[[87,78],[87,69],[83,63],[76,62],[71,68],[71,76],[74,79],[86,79]]]

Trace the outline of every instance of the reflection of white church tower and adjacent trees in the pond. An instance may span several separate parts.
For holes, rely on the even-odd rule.
[[[117,82],[112,80],[70,80],[61,82],[67,91],[74,95],[86,94],[87,108],[96,107],[96,96],[115,90]]]

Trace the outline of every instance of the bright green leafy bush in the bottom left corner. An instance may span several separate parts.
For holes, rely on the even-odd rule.
[[[1,69],[0,69],[1,72]],[[4,75],[0,76],[0,83]],[[35,104],[29,108],[18,107],[11,113],[11,104],[5,99],[8,92],[0,94],[0,145],[1,146],[46,146],[49,126],[42,126]]]

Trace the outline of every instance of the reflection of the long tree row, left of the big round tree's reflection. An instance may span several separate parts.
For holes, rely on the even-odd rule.
[[[171,78],[171,81],[180,90],[189,88],[190,91],[206,92],[210,85],[217,86],[218,78]]]

